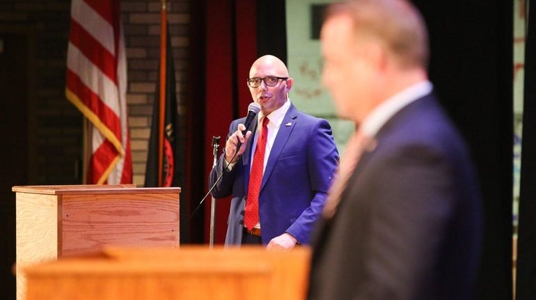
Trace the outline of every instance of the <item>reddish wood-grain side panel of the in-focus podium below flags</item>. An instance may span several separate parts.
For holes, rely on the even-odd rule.
[[[63,195],[61,203],[61,255],[179,244],[178,194]]]

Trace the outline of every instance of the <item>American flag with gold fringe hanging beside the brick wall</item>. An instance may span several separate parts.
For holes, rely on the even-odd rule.
[[[72,0],[65,95],[90,123],[88,184],[132,183],[119,0]]]

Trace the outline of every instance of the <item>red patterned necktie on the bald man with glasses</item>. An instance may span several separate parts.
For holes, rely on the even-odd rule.
[[[246,214],[244,215],[244,224],[248,230],[251,230],[259,223],[259,194],[260,184],[262,183],[262,173],[264,173],[266,139],[268,135],[268,123],[270,120],[262,120],[262,129],[257,139],[255,155],[253,155],[253,166],[249,174],[248,196],[246,198]]]

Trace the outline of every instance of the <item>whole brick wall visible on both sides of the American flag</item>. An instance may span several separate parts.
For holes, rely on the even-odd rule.
[[[168,4],[179,113],[187,92],[189,1]],[[152,104],[159,65],[160,1],[121,1],[128,60],[127,103],[134,183],[143,185]],[[35,63],[29,100],[30,168],[28,184],[81,183],[82,118],[66,100],[65,61],[70,1],[3,0],[0,33],[24,29],[33,36]]]

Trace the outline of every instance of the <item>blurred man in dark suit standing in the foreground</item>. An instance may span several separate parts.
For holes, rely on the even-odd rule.
[[[331,6],[324,85],[356,123],[313,240],[309,299],[471,299],[480,196],[467,147],[427,79],[409,1]]]

